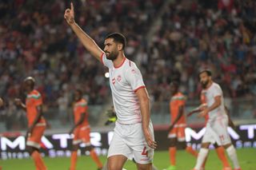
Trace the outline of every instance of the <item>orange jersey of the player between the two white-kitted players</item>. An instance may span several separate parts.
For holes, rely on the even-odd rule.
[[[170,121],[171,123],[174,122],[176,117],[178,117],[178,110],[180,106],[185,106],[185,96],[178,92],[170,99]],[[186,118],[184,114],[182,114],[182,117],[178,120],[176,125],[186,125]]]

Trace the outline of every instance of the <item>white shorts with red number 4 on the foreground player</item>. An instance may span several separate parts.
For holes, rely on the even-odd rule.
[[[154,129],[150,122],[150,133],[154,139]],[[146,143],[142,123],[122,125],[115,123],[114,136],[110,142],[108,156],[123,155],[138,164],[150,164],[153,161],[154,149]]]

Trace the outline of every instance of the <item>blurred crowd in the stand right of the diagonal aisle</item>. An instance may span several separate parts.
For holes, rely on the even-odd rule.
[[[138,53],[154,100],[170,99],[170,81],[179,81],[188,99],[198,99],[204,68],[212,70],[225,97],[255,97],[256,2],[199,2],[166,6],[162,26]]]

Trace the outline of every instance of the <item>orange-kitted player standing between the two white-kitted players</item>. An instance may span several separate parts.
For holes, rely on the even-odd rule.
[[[176,149],[178,142],[181,143],[182,148],[186,149],[191,155],[197,157],[198,153],[193,150],[191,146],[186,144],[185,128],[186,128],[186,117],[184,115],[185,107],[185,96],[178,91],[178,82],[174,81],[170,84],[170,117],[171,124],[169,128],[168,138],[170,138],[170,167],[166,170],[176,169]]]

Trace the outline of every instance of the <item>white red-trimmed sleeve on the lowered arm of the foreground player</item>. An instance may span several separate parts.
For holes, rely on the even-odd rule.
[[[125,77],[134,92],[137,92],[138,89],[145,88],[142,73],[136,65],[130,66],[130,68],[125,73]]]

